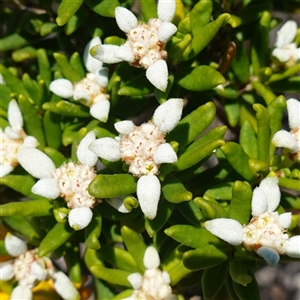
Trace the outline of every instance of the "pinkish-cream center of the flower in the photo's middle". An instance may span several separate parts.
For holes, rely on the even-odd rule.
[[[159,165],[155,164],[153,155],[165,143],[165,136],[151,121],[120,135],[119,142],[122,160],[130,165],[130,173],[136,177],[158,173]]]

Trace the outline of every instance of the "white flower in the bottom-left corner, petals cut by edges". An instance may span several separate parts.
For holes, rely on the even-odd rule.
[[[38,249],[27,249],[20,238],[7,233],[4,239],[6,251],[14,259],[0,264],[0,280],[15,279],[18,284],[10,299],[31,300],[32,289],[41,281],[53,279],[56,292],[64,300],[79,300],[80,295],[71,280],[61,271],[56,271],[50,258],[38,256]]]

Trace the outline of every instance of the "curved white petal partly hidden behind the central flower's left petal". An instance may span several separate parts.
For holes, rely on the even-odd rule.
[[[77,158],[83,164],[90,167],[96,165],[98,156],[89,149],[89,145],[96,140],[94,131],[88,132],[81,140],[77,148]]]

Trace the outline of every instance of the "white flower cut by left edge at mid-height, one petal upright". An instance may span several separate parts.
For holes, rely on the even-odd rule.
[[[27,136],[23,130],[23,117],[15,100],[8,105],[8,122],[4,131],[0,128],[0,177],[3,177],[19,164],[17,159],[18,149],[22,146],[36,147],[37,140]]]

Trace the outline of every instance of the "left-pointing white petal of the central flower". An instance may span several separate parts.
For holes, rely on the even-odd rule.
[[[118,161],[121,158],[120,145],[112,138],[101,138],[92,142],[89,149],[108,161]]]

